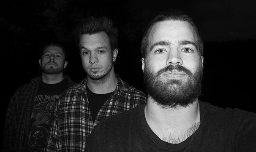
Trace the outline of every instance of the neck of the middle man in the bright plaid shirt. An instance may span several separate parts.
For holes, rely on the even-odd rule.
[[[105,94],[113,92],[117,86],[117,78],[114,72],[110,72],[103,80],[92,80],[88,77],[87,86],[93,93]]]

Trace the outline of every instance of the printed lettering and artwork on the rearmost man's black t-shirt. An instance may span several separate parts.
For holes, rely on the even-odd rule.
[[[50,126],[54,120],[55,103],[60,95],[36,95],[31,114],[29,145],[31,152],[44,152],[48,141]]]

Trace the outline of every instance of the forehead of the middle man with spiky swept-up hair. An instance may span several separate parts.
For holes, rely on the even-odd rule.
[[[84,46],[84,47],[106,46],[107,48],[109,48],[108,46],[110,45],[109,37],[108,37],[108,35],[106,35],[105,32],[99,32],[99,33],[95,33],[93,35],[89,35],[89,34],[81,35],[80,44],[81,44],[81,46]]]

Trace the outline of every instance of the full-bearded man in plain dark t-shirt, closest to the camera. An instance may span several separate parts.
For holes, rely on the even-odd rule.
[[[191,17],[165,11],[142,40],[147,103],[106,118],[87,152],[253,152],[256,114],[198,99],[203,43]]]

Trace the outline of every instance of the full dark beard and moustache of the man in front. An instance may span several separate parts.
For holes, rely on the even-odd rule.
[[[161,80],[164,72],[183,71],[188,75],[186,82],[177,79]],[[155,100],[155,102],[163,108],[174,108],[177,106],[187,107],[202,94],[202,78],[203,68],[199,66],[194,74],[187,68],[169,65],[160,69],[157,73],[150,72],[145,65],[144,83],[147,93]]]

